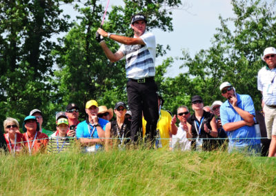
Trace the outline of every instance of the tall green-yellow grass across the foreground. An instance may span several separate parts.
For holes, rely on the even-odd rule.
[[[275,195],[276,161],[224,152],[0,155],[3,195]]]

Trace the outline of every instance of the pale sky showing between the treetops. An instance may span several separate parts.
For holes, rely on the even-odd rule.
[[[106,6],[108,0],[102,3]],[[157,43],[166,46],[170,45],[171,50],[167,57],[181,57],[181,49],[186,49],[192,57],[201,49],[207,49],[211,46],[210,40],[215,34],[215,28],[220,27],[219,15],[224,19],[233,17],[233,6],[230,0],[182,0],[184,8],[188,10],[173,10],[173,32],[163,32],[161,30],[153,30]],[[109,9],[112,5],[123,5],[121,0],[110,0]],[[66,14],[71,14],[72,19],[75,18],[72,12],[72,6],[63,8]],[[166,57],[157,58],[156,65],[161,64]],[[170,77],[179,73],[178,66],[181,62],[176,62],[175,66],[168,70]],[[184,71],[184,70],[181,70]]]

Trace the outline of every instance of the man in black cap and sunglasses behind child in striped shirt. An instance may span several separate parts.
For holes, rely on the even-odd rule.
[[[75,137],[77,125],[79,124],[79,106],[71,103],[66,106],[66,118],[68,119],[68,137]]]

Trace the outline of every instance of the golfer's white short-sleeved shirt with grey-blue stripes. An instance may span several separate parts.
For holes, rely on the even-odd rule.
[[[126,57],[126,77],[141,79],[155,76],[156,43],[150,32],[140,36],[146,45],[121,45],[119,51]]]

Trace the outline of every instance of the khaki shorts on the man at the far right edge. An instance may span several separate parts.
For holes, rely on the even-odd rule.
[[[266,121],[266,133],[268,139],[271,135],[276,135],[276,108],[271,108],[264,104],[264,121]]]

